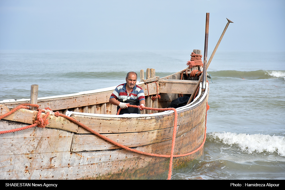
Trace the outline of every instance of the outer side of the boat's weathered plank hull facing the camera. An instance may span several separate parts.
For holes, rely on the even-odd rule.
[[[206,109],[209,90],[201,94],[198,103],[178,110],[174,155],[199,148],[205,138]],[[23,111],[24,110],[24,111]],[[2,112],[2,111],[1,111]],[[0,120],[1,129],[27,126],[17,122],[20,109],[9,120]],[[36,111],[34,111],[36,112]],[[3,115],[1,113],[1,115]],[[174,128],[174,113],[138,118],[82,116],[72,118],[124,146],[152,154],[170,155]],[[13,118],[13,119],[11,119]],[[16,119],[15,119],[16,118]],[[51,116],[51,118],[56,118]],[[6,118],[7,119],[7,118]],[[12,120],[12,121],[10,121]],[[52,123],[53,120],[50,119]],[[119,148],[90,134],[81,127],[65,123],[46,128],[33,127],[0,135],[1,179],[166,179],[170,158],[146,156]],[[56,121],[58,123],[58,121]],[[68,128],[72,130],[68,130]],[[173,170],[187,168],[203,158],[203,148],[173,159]]]

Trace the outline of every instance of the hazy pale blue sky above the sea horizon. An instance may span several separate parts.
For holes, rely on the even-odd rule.
[[[285,0],[0,0],[1,50],[285,51]]]

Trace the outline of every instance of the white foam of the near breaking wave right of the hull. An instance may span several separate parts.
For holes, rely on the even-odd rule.
[[[242,151],[253,152],[276,152],[285,157],[284,136],[270,136],[264,134],[236,134],[231,132],[213,132],[213,138],[217,138],[225,144],[236,144]]]

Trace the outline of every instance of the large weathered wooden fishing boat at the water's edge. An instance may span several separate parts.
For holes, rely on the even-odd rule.
[[[195,69],[201,67],[192,68]],[[160,78],[155,76],[154,69],[147,69],[144,79],[141,70],[141,82],[137,85],[144,89],[146,107],[168,108],[179,94],[196,93],[198,77],[187,77],[184,71]],[[123,146],[168,158],[126,150],[64,117],[49,115],[45,128],[0,134],[0,179],[166,179],[175,127],[174,111],[144,110],[141,114],[116,115],[116,106],[109,103],[114,89],[38,98],[37,104],[41,109],[49,107],[53,112],[68,115]],[[152,100],[152,95],[157,94],[160,98]],[[177,171],[203,158],[208,95],[207,83],[205,90],[199,88],[190,104],[176,109],[178,118],[170,170]],[[23,103],[30,103],[30,99],[0,103],[3,116]],[[33,124],[37,113],[19,109],[0,120],[0,131]],[[41,117],[45,115],[41,113]],[[175,157],[193,151],[188,156]]]

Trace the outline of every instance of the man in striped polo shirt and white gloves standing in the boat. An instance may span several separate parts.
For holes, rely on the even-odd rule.
[[[140,107],[145,105],[144,91],[136,85],[137,78],[137,73],[129,72],[126,76],[126,83],[117,86],[110,96],[109,102],[117,105],[117,111],[122,108],[120,115],[124,113],[141,113],[140,110],[142,109],[128,107],[128,104],[140,105]]]

